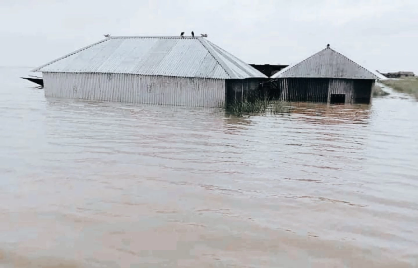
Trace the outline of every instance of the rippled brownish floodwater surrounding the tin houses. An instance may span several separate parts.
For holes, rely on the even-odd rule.
[[[0,68],[0,266],[418,267],[418,103],[46,99]]]

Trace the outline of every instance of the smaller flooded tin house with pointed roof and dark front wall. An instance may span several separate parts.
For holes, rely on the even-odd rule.
[[[379,77],[331,49],[275,73],[274,95],[281,100],[321,103],[370,103]]]

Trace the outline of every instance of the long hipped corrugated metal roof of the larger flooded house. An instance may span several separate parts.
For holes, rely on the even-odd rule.
[[[126,73],[195,78],[267,78],[201,37],[110,37],[33,72]]]

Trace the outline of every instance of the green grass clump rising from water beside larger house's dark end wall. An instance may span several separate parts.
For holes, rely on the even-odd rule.
[[[279,100],[269,98],[254,98],[253,100],[233,101],[226,106],[228,113],[242,116],[247,114],[283,113],[286,107]]]

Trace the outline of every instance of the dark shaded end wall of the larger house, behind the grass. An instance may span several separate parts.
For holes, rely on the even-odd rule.
[[[225,80],[225,101],[252,100],[260,97],[260,83],[267,78],[227,79]]]

